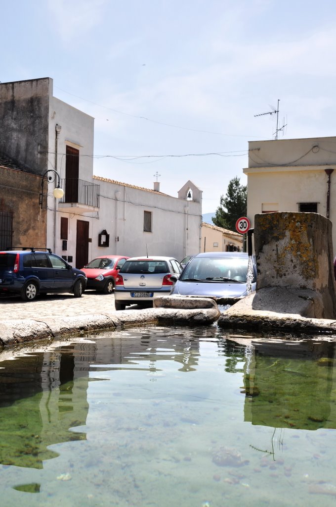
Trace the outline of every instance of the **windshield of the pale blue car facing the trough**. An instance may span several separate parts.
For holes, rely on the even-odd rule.
[[[180,280],[246,283],[247,264],[247,258],[196,257],[187,265]]]

